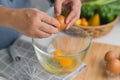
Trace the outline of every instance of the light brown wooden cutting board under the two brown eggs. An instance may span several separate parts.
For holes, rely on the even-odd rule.
[[[87,68],[74,80],[120,80],[120,75],[112,78],[105,72],[104,55],[109,50],[120,52],[120,46],[93,43],[85,59]]]

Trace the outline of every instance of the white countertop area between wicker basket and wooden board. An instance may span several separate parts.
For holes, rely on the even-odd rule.
[[[118,21],[109,34],[93,39],[93,41],[120,46],[120,21]]]

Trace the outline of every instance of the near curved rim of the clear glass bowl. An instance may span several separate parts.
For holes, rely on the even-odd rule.
[[[87,38],[88,38],[88,40],[89,40],[89,44],[87,45],[87,47],[86,47],[85,49],[81,50],[80,52],[78,52],[78,53],[76,53],[76,54],[67,55],[67,56],[66,56],[66,55],[63,55],[63,56],[55,56],[55,55],[50,55],[50,54],[48,54],[47,52],[39,49],[39,48],[35,45],[35,43],[34,43],[34,38],[32,38],[32,46],[33,46],[33,48],[34,48],[34,51],[35,51],[35,48],[36,48],[40,53],[42,53],[42,54],[44,54],[44,55],[46,55],[46,56],[49,56],[49,57],[62,57],[62,58],[64,58],[64,57],[72,57],[72,56],[78,56],[78,55],[83,54],[85,51],[87,51],[87,50],[91,47],[92,38],[91,38],[90,36],[88,36]],[[36,52],[35,52],[35,54],[36,54]]]

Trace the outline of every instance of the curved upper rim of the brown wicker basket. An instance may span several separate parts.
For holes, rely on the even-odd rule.
[[[107,23],[107,24],[103,24],[103,25],[99,25],[99,26],[79,26],[83,29],[96,29],[96,28],[104,28],[107,27],[109,25],[113,25],[114,23],[116,23],[119,20],[119,16],[117,16],[112,22]]]

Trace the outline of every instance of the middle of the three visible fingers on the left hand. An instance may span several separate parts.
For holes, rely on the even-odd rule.
[[[46,24],[44,22],[41,23],[41,27],[39,28],[40,30],[49,33],[49,34],[55,34],[58,33],[58,28],[55,28],[49,24]]]

